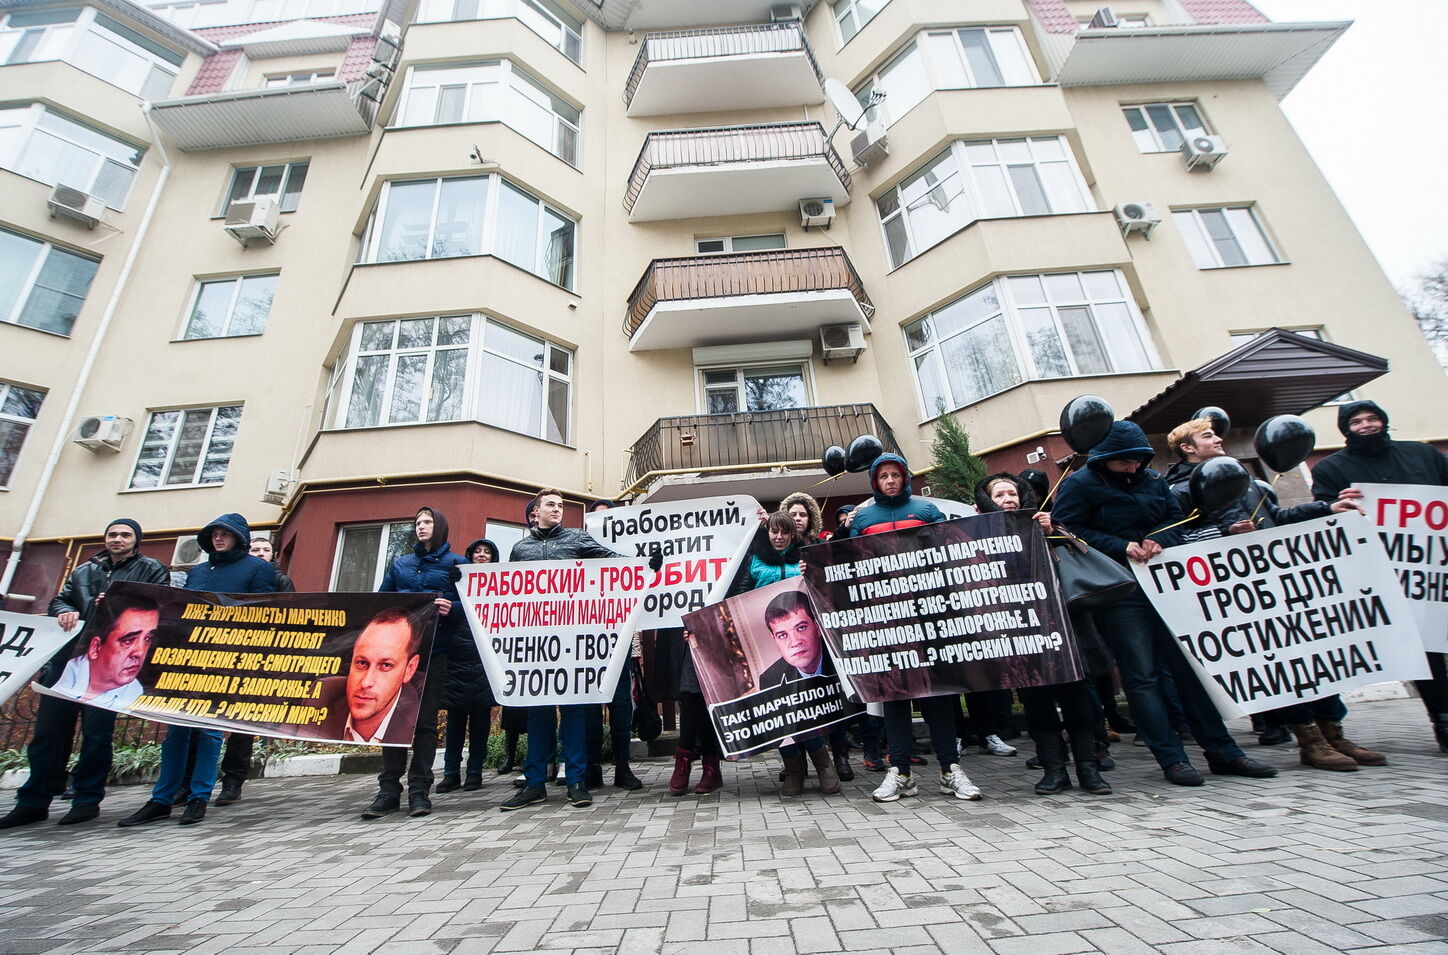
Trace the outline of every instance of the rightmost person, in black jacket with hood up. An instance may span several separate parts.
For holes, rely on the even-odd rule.
[[[1347,447],[1312,467],[1312,496],[1337,501],[1358,493],[1352,485],[1428,485],[1448,488],[1448,459],[1422,441],[1394,441],[1387,433],[1387,412],[1371,401],[1350,401],[1338,408],[1338,431]],[[1438,748],[1448,752],[1448,654],[1428,654],[1432,677],[1418,680],[1418,695],[1428,709]]]

